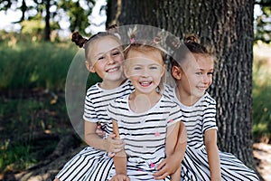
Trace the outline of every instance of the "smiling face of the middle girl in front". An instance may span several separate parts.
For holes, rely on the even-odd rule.
[[[155,92],[164,75],[164,62],[160,53],[130,51],[125,62],[125,74],[140,93]]]

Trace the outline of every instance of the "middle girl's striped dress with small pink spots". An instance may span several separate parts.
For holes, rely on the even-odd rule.
[[[108,116],[117,120],[120,138],[126,143],[126,170],[131,181],[154,180],[155,168],[165,158],[166,128],[182,119],[179,106],[162,96],[150,110],[135,113],[125,96],[109,104]],[[115,174],[114,167],[109,178]],[[164,180],[170,180],[169,176]]]

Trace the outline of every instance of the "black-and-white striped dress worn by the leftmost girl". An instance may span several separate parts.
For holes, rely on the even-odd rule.
[[[112,121],[107,117],[108,103],[130,94],[133,90],[130,81],[113,90],[103,90],[98,83],[91,86],[87,91],[83,118],[86,121],[99,122],[107,138],[112,132]],[[113,158],[107,157],[106,151],[87,147],[72,157],[56,177],[61,181],[106,180],[113,165]]]

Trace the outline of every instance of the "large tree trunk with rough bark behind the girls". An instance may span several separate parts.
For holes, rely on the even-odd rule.
[[[107,24],[153,25],[181,39],[195,33],[210,45],[217,57],[210,95],[217,100],[218,145],[253,167],[253,0],[109,0],[108,5]]]

